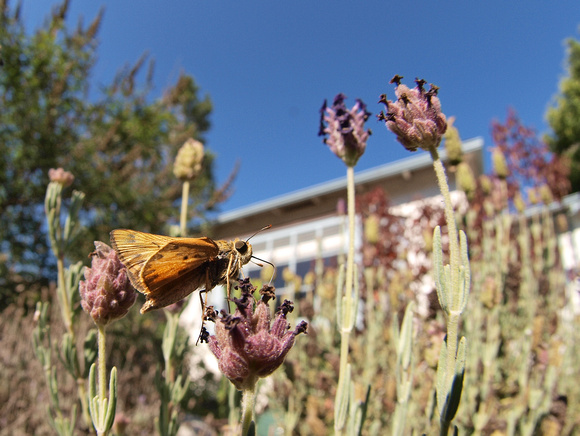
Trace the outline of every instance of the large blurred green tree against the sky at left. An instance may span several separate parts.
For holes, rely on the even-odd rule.
[[[93,240],[108,241],[116,227],[163,232],[176,217],[181,185],[173,159],[184,141],[203,141],[212,105],[182,74],[159,98],[152,96],[153,62],[142,57],[112,83],[91,92],[96,34],[102,11],[88,25],[67,28],[69,1],[45,24],[27,32],[20,6],[0,0],[0,307],[15,291],[45,285],[53,259],[43,201],[48,170],[63,167],[86,194],[86,259]],[[95,96],[96,95],[96,96]],[[191,187],[192,216],[203,219],[226,195],[216,187],[213,156]]]

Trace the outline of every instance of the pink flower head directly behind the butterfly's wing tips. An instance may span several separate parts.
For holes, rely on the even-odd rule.
[[[117,252],[104,242],[95,241],[91,268],[85,268],[80,282],[81,306],[95,324],[105,326],[124,317],[137,298],[127,277],[127,268]]]

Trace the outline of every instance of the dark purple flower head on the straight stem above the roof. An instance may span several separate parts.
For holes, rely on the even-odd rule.
[[[367,106],[359,99],[352,109],[347,109],[345,99],[344,94],[338,94],[331,107],[324,100],[320,109],[318,136],[324,136],[323,142],[330,150],[349,167],[353,167],[365,152],[371,134],[369,129],[365,130],[365,121],[370,112],[367,112]]]

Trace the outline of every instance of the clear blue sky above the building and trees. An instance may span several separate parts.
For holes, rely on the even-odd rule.
[[[29,28],[56,3],[24,0]],[[348,106],[361,98],[376,114],[378,96],[394,95],[394,74],[439,86],[464,139],[491,145],[491,120],[510,106],[543,133],[564,41],[580,37],[578,0],[72,0],[69,21],[88,22],[101,7],[95,89],[148,52],[156,95],[185,71],[211,97],[206,145],[218,181],[242,164],[223,211],[344,176],[317,136],[320,106],[343,92]],[[409,156],[383,124],[369,126],[357,170]]]

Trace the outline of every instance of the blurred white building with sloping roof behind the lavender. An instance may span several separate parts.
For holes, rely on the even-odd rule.
[[[463,142],[464,161],[476,177],[483,172],[483,146],[480,137]],[[444,150],[441,157],[445,161]],[[447,173],[450,189],[454,191],[454,173],[449,170]],[[355,172],[355,185],[357,195],[382,187],[391,204],[401,210],[412,208],[418,199],[440,195],[431,157],[425,152]],[[281,272],[286,268],[303,277],[312,269],[315,259],[323,258],[326,264],[335,265],[338,255],[346,252],[344,217],[337,213],[337,204],[345,198],[346,173],[344,178],[223,213],[213,227],[213,236],[246,239],[271,224],[271,229],[253,236],[251,244],[256,257],[276,265],[274,285],[283,292]],[[244,267],[244,273],[250,277],[257,276],[259,271],[256,264]]]

